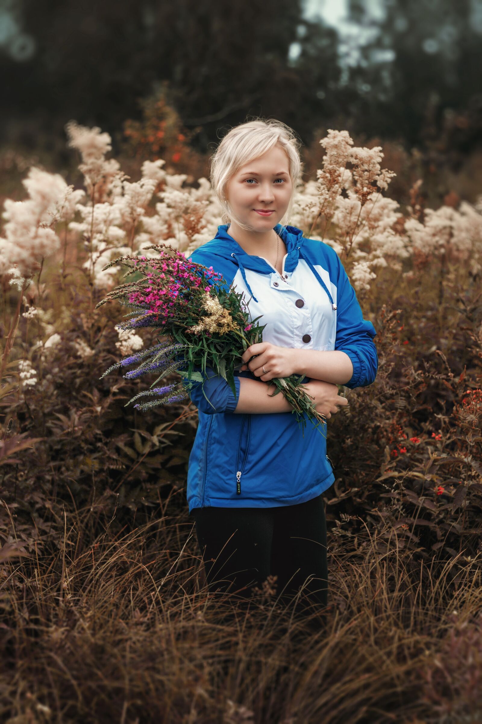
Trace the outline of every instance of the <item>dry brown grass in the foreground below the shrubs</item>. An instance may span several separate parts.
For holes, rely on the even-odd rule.
[[[275,595],[249,610],[210,595],[175,507],[95,539],[95,507],[65,512],[58,544],[4,563],[2,720],[461,722],[481,707],[475,561],[453,586],[455,560],[412,565],[396,540],[379,555],[366,531],[363,557],[330,556],[330,606],[310,622]]]

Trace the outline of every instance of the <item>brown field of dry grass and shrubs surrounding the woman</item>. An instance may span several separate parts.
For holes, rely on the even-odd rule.
[[[308,617],[272,580],[247,607],[207,592],[185,494],[197,411],[140,415],[139,380],[100,381],[121,311],[94,311],[65,240],[0,389],[0,721],[482,721],[481,272],[419,255],[361,298],[379,371],[330,421],[329,606]]]

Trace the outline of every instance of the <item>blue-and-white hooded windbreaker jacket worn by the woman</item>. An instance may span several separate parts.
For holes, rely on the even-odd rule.
[[[189,258],[212,266],[223,274],[227,287],[244,292],[251,319],[262,314],[258,323],[267,325],[263,341],[297,349],[342,350],[353,363],[353,376],[345,387],[371,384],[378,367],[376,332],[371,321],[363,319],[337,253],[323,242],[304,238],[296,227],[274,228],[288,251],[281,277],[265,258],[247,254],[228,234],[228,224],[219,226],[214,239]],[[251,371],[235,372],[236,395],[241,377],[259,381]],[[199,414],[189,455],[189,513],[205,506],[294,505],[317,497],[335,481],[326,439],[309,420],[303,431],[291,412],[235,413],[238,397],[210,368],[205,394],[202,384],[189,390]],[[326,434],[326,424],[323,428]]]

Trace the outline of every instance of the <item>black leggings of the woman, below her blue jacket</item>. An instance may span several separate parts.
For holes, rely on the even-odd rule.
[[[210,592],[229,591],[248,599],[252,586],[261,589],[271,574],[277,576],[280,600],[292,599],[304,586],[299,610],[311,603],[317,609],[327,605],[327,523],[321,494],[277,508],[193,508],[191,516]]]

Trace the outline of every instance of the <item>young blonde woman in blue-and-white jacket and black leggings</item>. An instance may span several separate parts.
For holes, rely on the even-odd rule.
[[[306,375],[306,392],[330,418],[347,405],[337,384],[374,382],[375,329],[337,253],[284,226],[300,174],[291,128],[270,119],[234,127],[211,159],[223,222],[190,258],[244,292],[263,341],[235,376],[236,397],[212,369],[191,390],[199,426],[189,457],[187,500],[211,591],[249,598],[277,576],[277,594],[327,605],[327,529],[322,493],[335,481],[326,440],[291,405],[270,397],[274,377]],[[326,434],[326,424],[324,425]],[[302,594],[303,595],[303,594]]]

